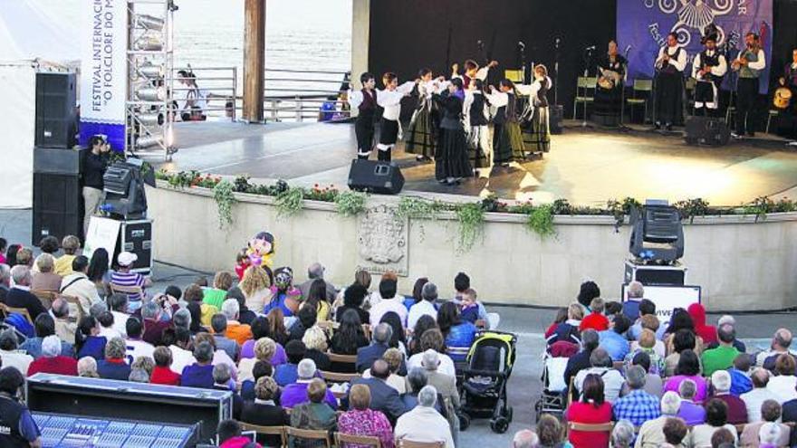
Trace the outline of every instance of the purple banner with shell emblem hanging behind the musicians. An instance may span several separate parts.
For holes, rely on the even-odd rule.
[[[719,28],[717,44],[725,49],[729,65],[744,49],[744,34],[761,36],[766,69],[759,78],[760,91],[766,93],[772,61],[773,0],[618,0],[617,40],[621,50],[629,47],[629,80],[653,78],[653,62],[668,33],[677,33],[678,43],[687,50],[686,73],[691,74],[691,62],[703,50],[703,30],[711,23]],[[725,76],[723,87],[733,89],[735,78]]]

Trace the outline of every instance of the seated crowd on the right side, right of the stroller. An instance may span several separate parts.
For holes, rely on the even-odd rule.
[[[732,316],[709,325],[695,303],[660,325],[643,297],[632,282],[628,301],[606,303],[588,281],[560,310],[547,357],[567,358],[568,386],[543,393],[567,396],[566,424],[544,414],[536,433],[515,434],[514,447],[797,446],[791,331],[777,329],[770,349],[748,353]]]

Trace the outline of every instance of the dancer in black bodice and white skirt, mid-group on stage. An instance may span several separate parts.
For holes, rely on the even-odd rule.
[[[465,92],[465,125],[467,132],[467,150],[476,176],[486,173],[490,176],[493,166],[493,145],[490,139],[489,103],[485,98],[485,82],[475,80]],[[485,168],[481,170],[479,168]]]

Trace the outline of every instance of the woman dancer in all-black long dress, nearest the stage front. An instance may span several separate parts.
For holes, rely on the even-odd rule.
[[[465,127],[462,123],[465,91],[462,80],[456,78],[448,84],[448,90],[432,96],[439,106],[440,144],[435,155],[435,177],[441,184],[454,185],[463,177],[473,176],[473,168],[467,159]]]

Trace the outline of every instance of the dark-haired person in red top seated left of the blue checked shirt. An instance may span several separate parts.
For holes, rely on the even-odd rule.
[[[603,396],[603,380],[600,375],[590,374],[584,378],[581,401],[573,402],[567,409],[567,421],[580,424],[611,423],[611,405]],[[578,448],[606,448],[610,431],[584,432],[571,430],[568,440]]]

